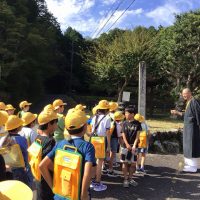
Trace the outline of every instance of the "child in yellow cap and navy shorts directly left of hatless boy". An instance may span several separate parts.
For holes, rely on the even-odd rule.
[[[113,171],[113,161],[116,158],[116,153],[118,150],[118,144],[123,144],[122,140],[122,121],[124,120],[125,116],[120,111],[116,111],[113,116],[113,131],[111,133],[111,151],[110,151],[110,160],[109,160],[109,170],[107,175],[110,177],[116,177],[117,175]]]

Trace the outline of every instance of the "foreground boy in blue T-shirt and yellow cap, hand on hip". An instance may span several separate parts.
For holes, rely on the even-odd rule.
[[[57,149],[63,149],[65,145],[75,146],[79,153],[83,156],[83,174],[81,181],[80,196],[82,200],[89,199],[88,189],[91,181],[91,171],[96,164],[95,150],[91,143],[82,139],[87,129],[87,117],[84,111],[73,110],[70,111],[65,118],[65,128],[71,135],[70,140],[62,140],[57,143],[54,149],[47,154],[47,156],[40,163],[40,171],[47,181],[50,188],[53,186],[53,180],[50,175],[54,168],[54,158]],[[65,199],[64,197],[55,195],[54,199]]]

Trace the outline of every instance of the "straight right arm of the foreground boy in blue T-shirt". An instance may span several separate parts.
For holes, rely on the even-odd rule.
[[[88,189],[92,178],[92,162],[86,162],[82,180],[81,200],[88,200]]]

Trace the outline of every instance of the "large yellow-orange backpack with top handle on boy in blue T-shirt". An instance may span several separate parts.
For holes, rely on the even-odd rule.
[[[56,150],[53,192],[66,199],[78,200],[80,199],[81,180],[82,155],[77,152],[77,148],[65,145],[63,149]]]

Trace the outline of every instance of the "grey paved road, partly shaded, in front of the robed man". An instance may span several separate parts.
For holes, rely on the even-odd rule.
[[[182,155],[148,154],[147,174],[135,175],[137,187],[123,188],[122,177],[103,176],[108,189],[104,192],[93,191],[92,199],[200,199],[200,173],[180,173],[182,161]]]

